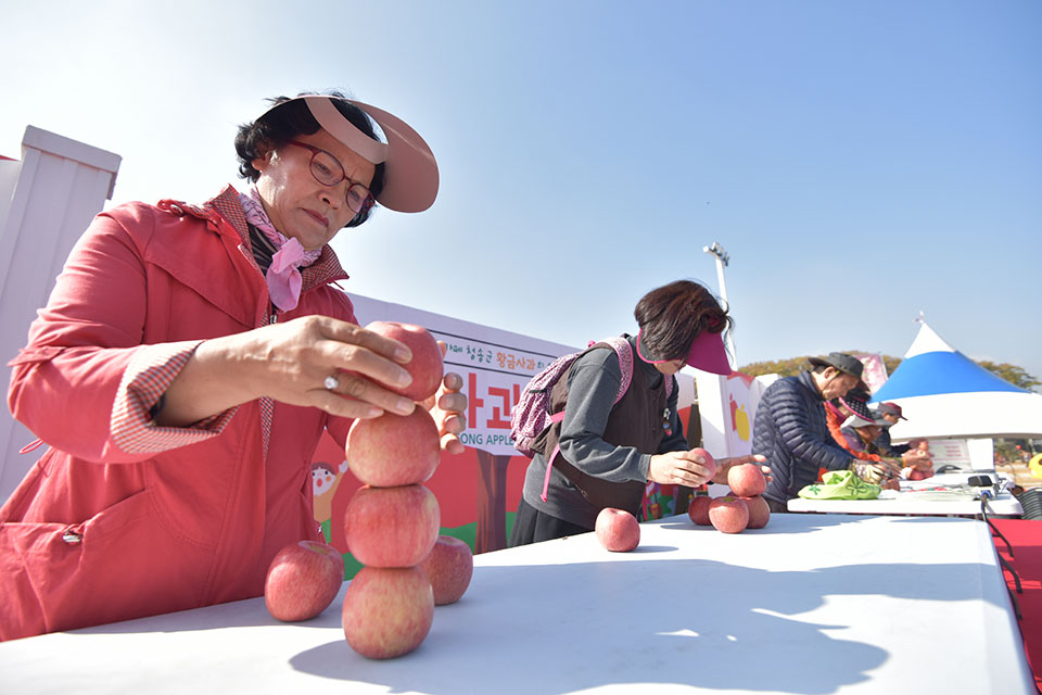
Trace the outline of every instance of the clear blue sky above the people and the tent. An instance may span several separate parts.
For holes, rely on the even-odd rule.
[[[415,126],[437,202],[334,241],[350,291],[567,344],[716,291],[738,361],[901,356],[930,326],[1042,378],[1042,2],[0,0],[0,154],[120,154],[115,202],[201,201],[264,97]],[[363,317],[364,319],[365,317]]]

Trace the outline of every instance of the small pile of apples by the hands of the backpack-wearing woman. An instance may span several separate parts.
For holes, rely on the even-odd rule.
[[[709,454],[706,453],[706,456]],[[723,533],[741,533],[746,529],[762,529],[767,526],[771,508],[762,496],[767,489],[767,479],[760,466],[733,466],[727,471],[727,485],[732,492],[729,495],[700,495],[691,500],[687,507],[691,521],[699,526],[712,526]]]

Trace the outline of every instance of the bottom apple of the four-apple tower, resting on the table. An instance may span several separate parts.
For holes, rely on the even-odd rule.
[[[408,654],[433,620],[434,592],[418,567],[363,567],[344,593],[344,636],[370,659]]]

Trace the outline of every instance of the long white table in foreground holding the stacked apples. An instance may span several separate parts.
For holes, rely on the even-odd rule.
[[[632,553],[584,534],[478,556],[398,659],[352,652],[340,599],[282,624],[257,598],[0,644],[0,693],[1035,692],[979,521],[641,528]]]

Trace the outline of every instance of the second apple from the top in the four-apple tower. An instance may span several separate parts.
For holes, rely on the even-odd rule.
[[[441,460],[440,439],[434,418],[422,408],[409,415],[384,413],[351,426],[347,463],[367,485],[411,485],[434,475]]]

